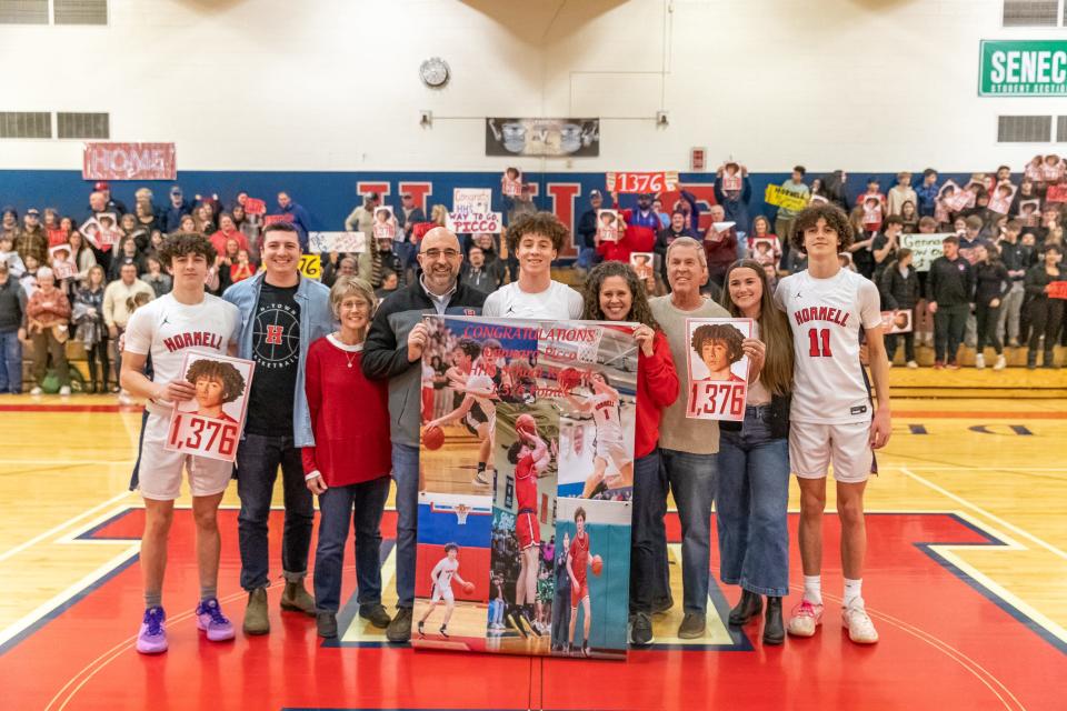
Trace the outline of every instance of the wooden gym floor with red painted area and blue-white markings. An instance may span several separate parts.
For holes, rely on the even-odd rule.
[[[929,372],[929,371],[925,371]],[[824,624],[765,648],[760,625],[724,624],[737,590],[717,583],[708,634],[675,638],[680,605],[655,620],[652,649],[622,662],[456,654],[393,647],[355,614],[323,644],[310,618],[213,644],[196,630],[189,511],[176,518],[164,588],[170,651],[133,651],[141,611],[140,501],[127,491],[139,410],[111,398],[0,401],[0,679],[10,709],[1061,709],[1067,698],[1067,400],[898,399],[894,437],[868,488],[864,595],[881,641],[840,630],[837,524],[826,524]],[[1011,387],[1028,375],[1011,369]],[[913,378],[898,369],[895,383]],[[1051,373],[1044,373],[1046,378]],[[1059,387],[1064,374],[1055,373]],[[1007,382],[1007,379],[1004,379]],[[975,384],[977,383],[977,385]],[[903,382],[900,384],[904,384]],[[921,387],[918,383],[916,387]],[[944,393],[943,393],[944,394]],[[832,489],[832,488],[831,488]],[[280,501],[280,492],[276,495]],[[182,503],[188,504],[188,501]],[[236,488],[225,500],[220,598],[240,624]],[[830,493],[832,507],[832,492]],[[390,502],[391,507],[391,502]],[[791,508],[796,507],[796,487]],[[281,513],[271,521],[277,573]],[[796,515],[790,517],[795,539]],[[669,521],[680,603],[678,525]],[[395,514],[383,522],[386,604],[395,601]],[[791,581],[800,572],[792,541]],[[712,545],[715,550],[715,545]],[[350,555],[350,554],[349,554]],[[351,559],[342,600],[352,594]]]

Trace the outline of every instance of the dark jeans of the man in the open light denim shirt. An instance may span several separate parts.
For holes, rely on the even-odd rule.
[[[282,574],[290,582],[308,574],[315,502],[303,481],[300,450],[293,447],[292,437],[288,434],[246,434],[237,450],[237,494],[241,499],[237,530],[241,549],[241,588],[245,590],[270,584],[267,519],[279,465],[286,501],[286,525],[281,534]]]

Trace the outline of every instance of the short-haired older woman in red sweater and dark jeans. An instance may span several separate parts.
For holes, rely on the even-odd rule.
[[[387,381],[368,380],[360,368],[376,304],[369,283],[341,277],[330,290],[330,306],[341,328],[308,348],[305,388],[315,445],[300,452],[308,489],[319,497],[315,601],[319,635],[325,638],[337,637],[349,521],[356,525],[359,615],[375,627],[389,627],[378,558],[392,467],[389,391]]]

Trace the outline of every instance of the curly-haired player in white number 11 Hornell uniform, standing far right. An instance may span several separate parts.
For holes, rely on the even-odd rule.
[[[822,510],[832,463],[845,573],[842,621],[849,639],[870,644],[878,641],[878,632],[860,594],[867,551],[864,488],[874,464],[872,450],[889,441],[889,362],[878,289],[860,274],[841,269],[837,259],[851,243],[852,228],[844,212],[826,204],[807,208],[796,218],[791,244],[808,256],[808,269],[782,279],[775,292],[794,331],[789,460],[800,485],[804,565],[804,597],[787,630],[811,637],[822,618]],[[860,330],[878,397],[874,412],[859,361]]]

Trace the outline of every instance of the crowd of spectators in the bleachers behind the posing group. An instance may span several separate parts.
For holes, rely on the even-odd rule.
[[[855,198],[844,171],[809,180],[798,166],[781,191],[804,203],[836,204],[849,214],[856,240],[842,262],[877,283],[884,310],[911,313],[911,330],[889,338],[890,360],[896,341],[903,340],[903,362],[909,368],[918,367],[916,342],[934,346],[935,368],[957,368],[960,344],[977,348],[979,368],[985,367],[987,347],[995,369],[1006,365],[1005,348],[1027,348],[1028,367],[1036,367],[1039,356],[1043,365],[1054,367],[1053,348],[1067,337],[1064,300],[1056,298],[1054,283],[1063,280],[1067,218],[1065,161],[1058,157],[1036,157],[1021,176],[1013,177],[1010,168],[1001,166],[995,173],[971,176],[965,184],[940,180],[933,169],[916,179],[901,172],[887,190],[871,178]],[[806,267],[805,254],[790,249],[788,239],[800,208],[764,203],[752,194],[744,166],[728,163],[717,171],[710,220],[701,220],[700,202],[685,189],[672,204],[651,193],[638,194],[630,203],[631,196],[620,201],[617,193],[605,192],[589,192],[576,222],[575,279],[600,261],[638,264],[647,260],[641,256],[652,254],[656,266],[647,270],[645,283],[650,292],[664,293],[668,287],[662,258],[670,242],[684,236],[704,244],[709,271],[705,291],[711,298],[718,298],[729,264],[742,257],[764,264],[772,281]],[[598,211],[627,204],[619,210],[618,238],[601,239]],[[411,194],[402,193],[400,204],[385,216],[385,229],[375,224],[380,207],[378,194],[363,196],[345,220],[345,230],[367,236],[368,249],[322,253],[323,283],[330,286],[342,274],[359,276],[382,298],[415,277],[417,244],[429,229],[446,224],[448,207],[427,206],[427,217]],[[503,208],[505,226],[537,210],[527,188],[505,197]],[[0,392],[22,391],[22,344],[29,342],[31,392],[69,394],[72,377],[76,390],[119,392],[118,342],[129,316],[138,303],[171,287],[156,257],[163,236],[185,231],[210,237],[218,257],[207,288],[219,294],[259,268],[265,224],[292,223],[308,249],[307,211],[286,192],[278,193],[269,210],[267,214],[266,206],[243,193],[226,204],[213,194],[189,198],[177,184],[162,201],[141,188],[129,209],[104,182],[96,183],[84,214],[31,208],[20,216],[4,208]],[[916,263],[919,256],[901,237],[914,233],[944,234],[944,253]],[[517,262],[499,234],[460,238],[466,256],[462,283],[490,293],[515,279]],[[68,365],[70,339],[84,349],[89,372],[84,382]]]

